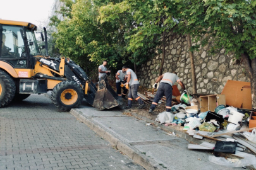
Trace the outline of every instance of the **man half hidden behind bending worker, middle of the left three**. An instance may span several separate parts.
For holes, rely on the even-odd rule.
[[[121,87],[121,84],[125,84],[126,79],[127,74],[125,72],[125,67],[123,67],[121,70],[116,72],[116,93],[118,93],[119,97],[122,97],[124,99],[128,89],[126,89],[125,86]],[[121,88],[123,88],[123,94],[121,94]]]

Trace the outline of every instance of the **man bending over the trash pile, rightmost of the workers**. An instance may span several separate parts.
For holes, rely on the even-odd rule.
[[[150,106],[149,113],[153,113],[155,106],[157,106],[157,103],[162,98],[162,96],[166,96],[166,111],[171,112],[171,99],[173,96],[174,82],[178,82],[181,88],[183,88],[184,91],[186,91],[185,85],[183,84],[183,82],[181,82],[176,72],[166,72],[161,76],[157,77],[157,80],[155,81],[153,88],[157,88],[157,82],[159,81],[159,88],[157,89],[157,93],[155,94],[152,105]]]

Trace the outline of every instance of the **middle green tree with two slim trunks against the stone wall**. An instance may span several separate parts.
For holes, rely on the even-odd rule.
[[[126,0],[118,4],[109,4],[101,8],[101,22],[116,20],[118,14],[130,13],[136,23],[140,26],[133,28],[130,38],[128,50],[133,52],[144,47],[147,42],[145,40],[154,40],[155,35],[161,35],[158,38],[159,43],[162,43],[162,60],[159,74],[162,74],[162,66],[165,59],[166,35],[170,31],[185,34],[186,31],[181,30],[177,25],[183,25],[186,29],[184,16],[177,11],[178,8],[188,8],[187,4],[177,4],[176,1],[136,1]],[[188,33],[186,33],[188,34]],[[189,36],[189,34],[187,35]],[[188,44],[191,45],[191,40],[188,38]],[[192,79],[193,93],[197,93],[195,67],[193,65],[193,53],[190,51],[192,63]]]

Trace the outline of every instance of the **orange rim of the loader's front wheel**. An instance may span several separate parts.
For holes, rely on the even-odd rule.
[[[78,99],[78,95],[73,89],[65,89],[61,93],[61,101],[64,105],[73,105]]]

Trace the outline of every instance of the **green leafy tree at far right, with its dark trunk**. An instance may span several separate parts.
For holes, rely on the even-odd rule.
[[[212,52],[226,49],[243,60],[256,106],[256,1],[205,0],[206,33],[214,38]]]

